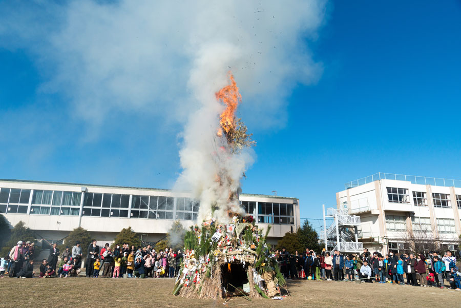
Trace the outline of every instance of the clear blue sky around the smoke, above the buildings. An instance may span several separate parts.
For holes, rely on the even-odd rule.
[[[242,89],[239,116],[258,142],[243,192],[298,197],[301,217],[321,218],[345,182],[376,172],[461,179],[460,17],[458,1],[328,2],[302,43],[318,78],[294,79],[272,118],[255,116]],[[59,64],[10,34],[0,31],[1,178],[173,186],[183,122],[162,117],[167,105],[80,116],[78,91],[50,90]]]

